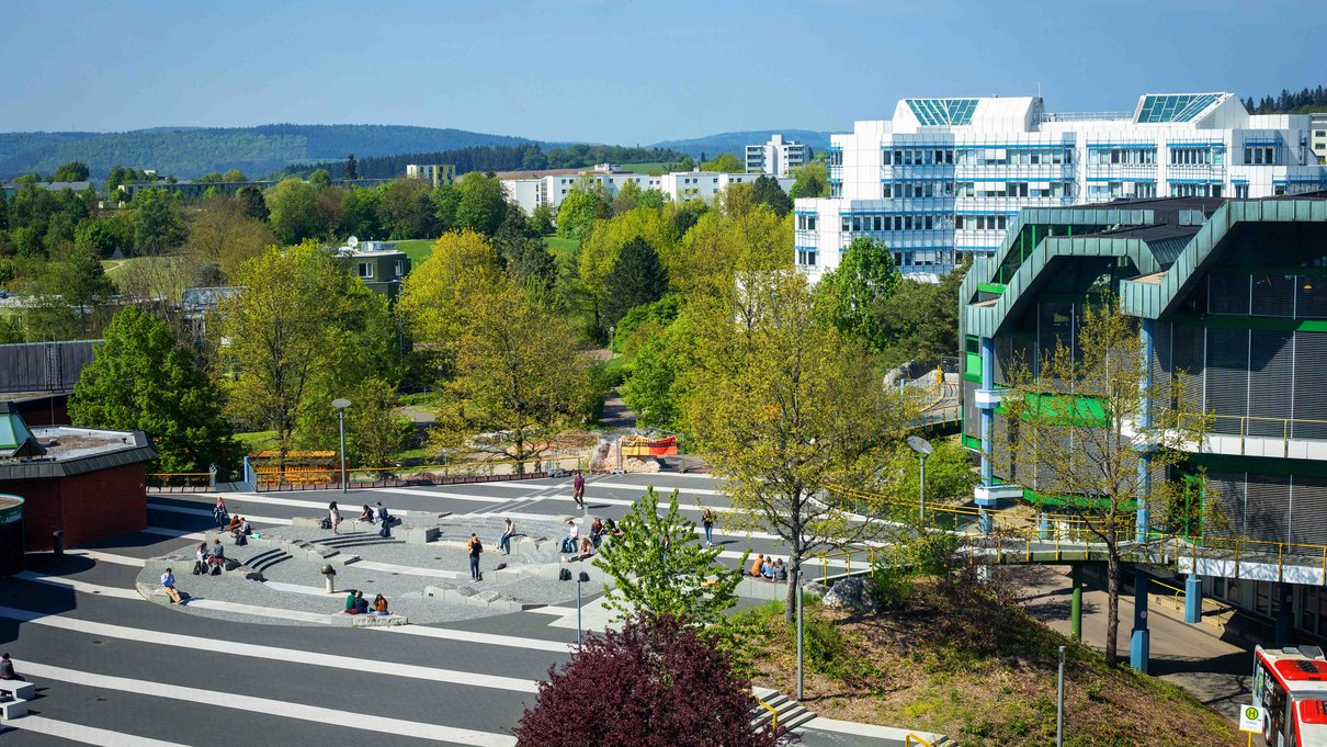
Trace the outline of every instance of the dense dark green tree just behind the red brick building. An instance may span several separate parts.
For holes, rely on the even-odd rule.
[[[235,466],[239,444],[222,417],[220,393],[170,325],[126,306],[102,340],[69,399],[73,425],[146,433],[157,447],[150,472]]]

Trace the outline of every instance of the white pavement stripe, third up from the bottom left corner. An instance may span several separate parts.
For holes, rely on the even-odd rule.
[[[105,622],[93,622],[90,620],[78,620],[73,617],[48,616],[40,612],[31,612],[27,609],[15,609],[8,606],[0,606],[0,617],[8,617],[11,620],[31,622],[33,625],[45,625],[48,628],[73,630],[89,636],[121,638],[125,641],[137,641],[139,644],[151,644],[158,646],[174,646],[178,649],[192,649],[198,651],[211,651],[211,653],[216,653],[220,650],[224,651],[226,654],[235,654],[242,657],[263,658],[263,659],[272,659],[289,663],[304,663],[309,666],[325,666],[329,669],[345,669],[349,671],[368,671],[374,674],[385,674],[389,677],[409,677],[411,679],[427,679],[430,682],[446,682],[449,685],[464,685],[470,687],[488,687],[492,690],[508,690],[512,693],[537,691],[537,683],[532,679],[518,679],[515,677],[500,677],[496,674],[476,674],[472,671],[418,666],[413,663],[393,663],[378,659],[361,659],[361,658],[346,657],[342,654],[320,654],[316,651],[301,651],[299,649],[281,649],[277,646],[263,646],[259,644],[244,644],[239,641],[226,641],[224,646],[218,647],[218,642],[215,638],[180,636],[178,633],[163,633],[159,630],[147,630],[143,628],[127,628],[123,625],[109,625]],[[28,674],[32,670],[32,665],[25,661],[23,669],[24,674]],[[32,674],[36,677],[41,677],[41,674],[36,671],[32,671]],[[336,723],[336,720],[329,720],[328,723]]]

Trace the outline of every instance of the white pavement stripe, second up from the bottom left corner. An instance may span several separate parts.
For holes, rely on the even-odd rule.
[[[216,642],[212,642],[215,649]],[[231,644],[227,644],[230,650]],[[358,728],[374,734],[401,734],[434,742],[454,742],[458,744],[474,744],[476,747],[512,747],[516,739],[506,734],[476,731],[472,728],[455,728],[434,723],[417,720],[394,719],[372,714],[357,713],[345,709],[321,709],[301,703],[287,703],[268,698],[252,695],[238,695],[218,690],[202,690],[198,687],[180,687],[178,685],[163,685],[146,679],[130,679],[127,677],[110,677],[90,671],[78,671],[60,666],[24,662],[24,673],[33,677],[56,679],[60,682],[73,682],[88,687],[101,687],[118,690],[121,693],[134,693],[153,698],[169,698],[171,701],[186,701],[191,703],[206,703],[223,709],[235,709],[245,714],[272,714],[283,718],[309,720],[314,723]]]

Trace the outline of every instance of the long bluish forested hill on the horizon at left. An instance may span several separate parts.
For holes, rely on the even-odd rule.
[[[239,169],[259,176],[293,162],[426,153],[476,146],[518,146],[524,138],[467,130],[395,125],[263,125],[259,127],[154,127],[129,133],[0,134],[0,179],[50,174],[81,161],[93,179],[113,166],[155,169],[182,179]]]

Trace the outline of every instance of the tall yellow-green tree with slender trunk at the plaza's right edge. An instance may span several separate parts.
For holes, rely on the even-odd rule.
[[[787,547],[791,622],[809,553],[885,529],[820,494],[868,480],[908,407],[880,387],[861,344],[823,321],[796,271],[746,273],[689,314],[695,364],[683,373],[681,430],[725,479],[739,509],[730,525]]]

